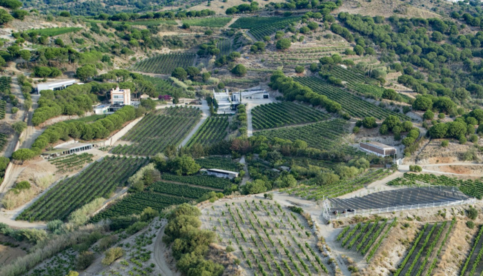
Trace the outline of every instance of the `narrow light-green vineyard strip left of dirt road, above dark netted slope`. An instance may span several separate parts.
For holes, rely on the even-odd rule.
[[[356,190],[364,188],[364,185],[371,184],[374,181],[383,179],[391,175],[391,170],[367,170],[362,175],[353,179],[338,181],[335,184],[324,186],[302,184],[295,188],[284,188],[281,192],[295,195],[304,199],[322,200],[327,197],[340,197],[352,193]]]

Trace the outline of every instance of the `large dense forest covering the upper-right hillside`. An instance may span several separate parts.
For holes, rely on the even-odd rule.
[[[384,61],[393,62],[399,55],[401,64],[397,70],[404,73],[398,79],[400,83],[421,94],[445,96],[455,102],[463,102],[471,94],[483,97],[483,87],[478,84],[483,68],[473,61],[474,57],[481,56],[483,32],[460,35],[454,21],[435,18],[393,16],[385,21],[346,12],[339,13],[338,17],[355,32],[356,41],[361,36],[366,42],[371,39],[380,46]],[[444,36],[449,39],[445,40]],[[455,63],[461,65],[460,70],[454,69]],[[426,70],[427,81],[413,66]]]

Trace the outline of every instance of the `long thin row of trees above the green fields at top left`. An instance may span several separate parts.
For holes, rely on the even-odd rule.
[[[146,12],[145,14],[139,13],[126,13],[120,12],[118,14],[105,14],[101,13],[96,18],[99,20],[110,20],[110,21],[134,21],[137,19],[185,19],[187,17],[209,17],[215,15],[216,12],[213,10],[179,10],[177,12],[166,11],[166,12]]]

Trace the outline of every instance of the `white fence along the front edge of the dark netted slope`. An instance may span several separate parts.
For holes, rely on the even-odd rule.
[[[413,205],[402,205],[402,206],[393,206],[393,207],[386,207],[386,208],[376,208],[376,209],[361,209],[361,210],[354,210],[354,212],[346,212],[346,213],[339,213],[337,215],[331,215],[330,206],[331,202],[328,199],[324,202],[324,218],[327,220],[331,219],[339,219],[344,217],[351,217],[355,215],[374,215],[380,213],[390,213],[390,212],[400,212],[404,210],[419,210],[425,208],[437,208],[437,207],[445,207],[445,206],[457,206],[457,205],[465,205],[465,204],[475,204],[476,199],[466,199],[466,200],[458,200],[458,201],[444,201],[444,202],[433,202],[428,204],[413,204]]]

